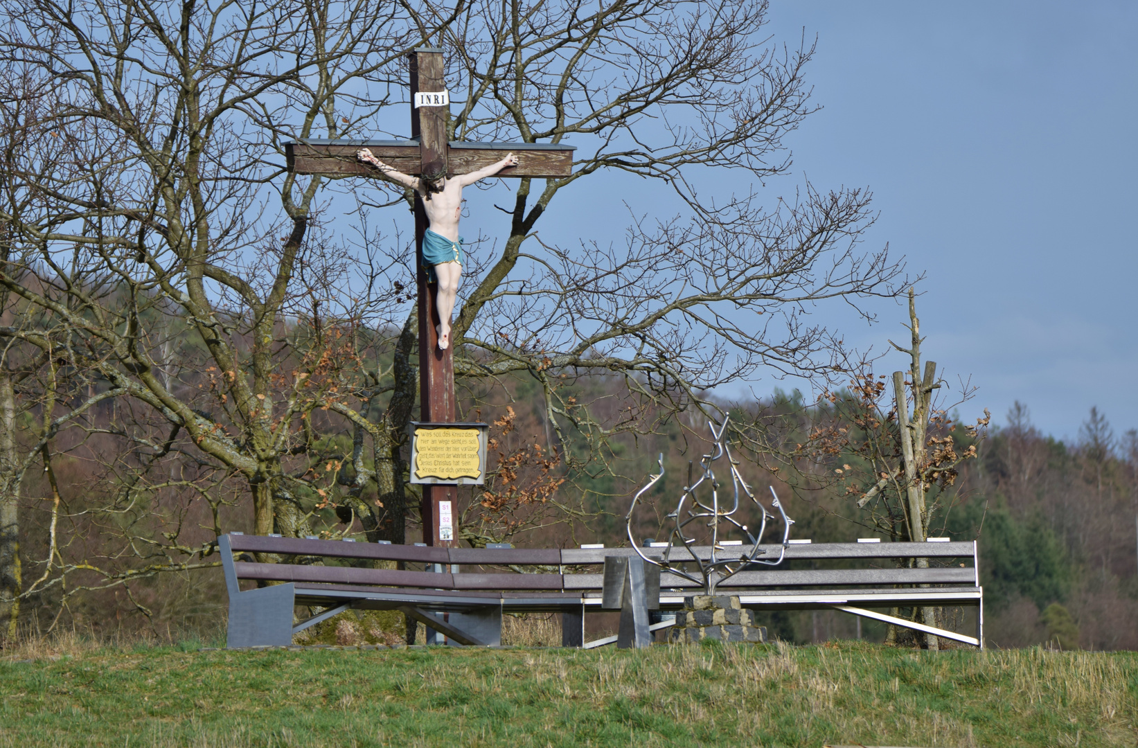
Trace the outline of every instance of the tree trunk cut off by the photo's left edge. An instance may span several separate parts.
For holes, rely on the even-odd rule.
[[[16,392],[0,370],[0,625],[16,635],[23,578],[19,565],[19,468],[16,465]]]

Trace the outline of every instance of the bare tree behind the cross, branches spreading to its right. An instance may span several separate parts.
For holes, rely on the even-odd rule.
[[[725,381],[762,368],[831,376],[838,338],[806,323],[807,309],[896,293],[900,266],[857,244],[872,220],[865,191],[807,184],[764,207],[756,191],[695,187],[704,173],[754,188],[783,174],[783,138],[814,110],[802,77],[814,49],[757,43],[765,14],[749,0],[475,2],[438,36],[448,88],[465,97],[455,139],[578,146],[570,176],[520,181],[502,249],[477,268],[454,327],[456,377],[533,378],[554,449],[588,445],[593,461],[568,454],[570,472],[611,469],[596,458],[615,434],[710,412],[701,393]],[[420,25],[444,16],[414,6]],[[634,219],[609,245],[535,236],[570,186],[613,171],[670,188],[685,211]],[[591,373],[624,378],[620,408],[580,397],[574,380]]]

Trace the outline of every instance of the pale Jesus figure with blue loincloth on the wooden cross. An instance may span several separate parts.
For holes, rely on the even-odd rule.
[[[462,214],[462,188],[473,184],[480,179],[493,176],[506,166],[517,166],[518,157],[506,154],[502,161],[469,174],[454,176],[429,178],[411,176],[396,171],[372,155],[368,148],[356,154],[356,157],[374,166],[387,179],[397,184],[410,187],[419,192],[427,211],[430,228],[423,236],[423,262],[427,263],[427,276],[430,282],[438,283],[436,309],[439,324],[438,347],[451,345],[451,314],[454,313],[454,297],[459,293],[459,281],[462,278],[462,237],[459,236],[459,217]]]

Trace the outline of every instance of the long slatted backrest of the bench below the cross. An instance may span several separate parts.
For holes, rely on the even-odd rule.
[[[264,535],[222,535],[218,549],[225,570],[225,582],[231,593],[239,591],[239,580],[273,582],[300,582],[315,584],[410,586],[444,590],[502,590],[502,591],[595,591],[603,586],[600,573],[566,573],[564,567],[603,565],[605,557],[633,556],[632,548],[432,548],[426,545],[395,545],[295,537],[272,537]],[[777,556],[781,546],[764,546],[768,556]],[[662,558],[668,549],[642,549],[649,557]],[[412,564],[437,564],[443,573],[413,572],[402,569],[372,569],[344,566],[319,566],[302,564],[257,564],[234,561],[233,551],[275,553],[292,557],[345,558],[358,560],[404,561]],[[707,559],[711,549],[671,549],[670,560],[691,560],[692,554]],[[728,546],[718,550],[717,558],[735,558],[744,553],[742,548]],[[744,570],[720,583],[721,587],[805,587],[805,586],[881,586],[894,584],[951,584],[979,586],[975,542],[929,542],[929,543],[809,543],[786,548],[786,561],[865,561],[884,562],[881,568],[791,568],[799,564],[783,564],[778,567],[761,567]],[[896,559],[926,558],[945,561],[955,559],[951,566],[932,568],[898,568]],[[971,561],[971,564],[968,562]],[[545,567],[536,574],[517,573],[450,573],[451,565],[461,566],[531,566]],[[556,573],[553,569],[556,568]],[[547,572],[546,572],[547,569]],[[661,589],[692,590],[695,583],[663,573]]]

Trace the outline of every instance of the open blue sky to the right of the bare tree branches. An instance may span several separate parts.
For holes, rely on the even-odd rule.
[[[1138,3],[772,2],[776,39],[803,27],[825,108],[795,171],[873,190],[867,246],[927,273],[925,351],[980,387],[962,414],[1020,400],[1074,438],[1098,405],[1138,428]],[[880,312],[847,340],[904,334]]]

